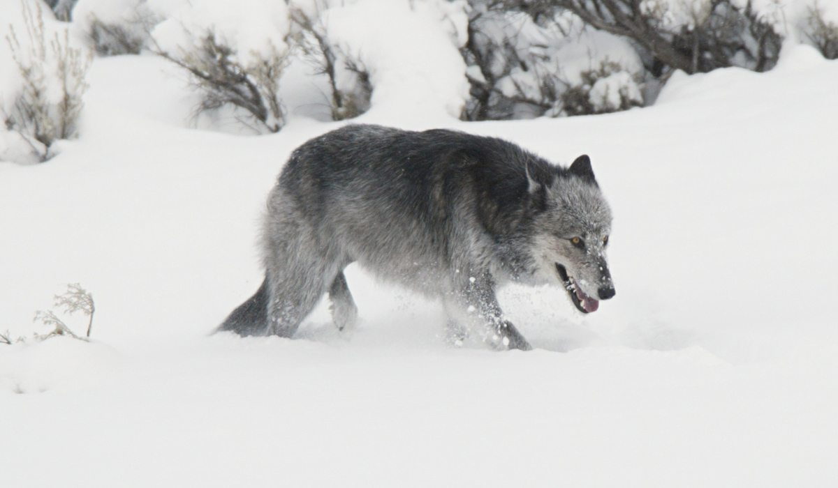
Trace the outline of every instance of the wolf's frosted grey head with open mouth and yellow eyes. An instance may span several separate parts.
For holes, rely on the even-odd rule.
[[[616,292],[605,251],[611,209],[593,176],[591,160],[578,157],[567,170],[536,182],[528,172],[530,194],[539,202],[533,219],[532,255],[542,279],[560,284],[583,313]]]

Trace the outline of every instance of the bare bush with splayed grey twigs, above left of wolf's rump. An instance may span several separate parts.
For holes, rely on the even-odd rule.
[[[245,64],[225,39],[209,29],[195,49],[172,54],[157,48],[155,52],[189,73],[190,84],[202,94],[198,114],[234,105],[249,114],[249,120],[241,121],[249,125],[254,121],[257,129],[278,132],[285,125],[279,81],[288,56],[273,44],[268,54],[252,53],[254,60]]]

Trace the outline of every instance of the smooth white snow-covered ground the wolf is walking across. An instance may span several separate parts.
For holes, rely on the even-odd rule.
[[[296,340],[209,336],[261,283],[288,153],[339,124],[291,107],[272,136],[189,128],[171,73],[96,59],[81,138],[0,163],[0,331],[43,333],[66,283],[96,299],[94,342],[0,344],[0,486],[838,482],[838,62],[789,45],[766,74],[675,74],[608,116],[361,116],[592,157],[618,294],[583,317],[505,289],[532,352],[445,347],[439,304],[354,267],[351,336],[325,305]]]

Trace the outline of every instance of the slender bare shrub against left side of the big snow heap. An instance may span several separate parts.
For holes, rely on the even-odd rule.
[[[351,119],[369,110],[372,83],[365,65],[330,43],[328,32],[318,19],[301,8],[292,7],[290,14],[292,22],[299,28],[295,41],[303,59],[314,66],[315,74],[328,78],[332,120]],[[343,80],[339,80],[340,74],[344,74]]]

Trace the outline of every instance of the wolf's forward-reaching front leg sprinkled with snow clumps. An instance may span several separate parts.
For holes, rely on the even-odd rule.
[[[469,330],[475,331],[483,342],[495,350],[530,351],[530,343],[512,322],[504,319],[494,295],[491,275],[483,273],[467,278],[468,281],[459,290],[446,297],[445,309],[450,319],[466,324]]]

